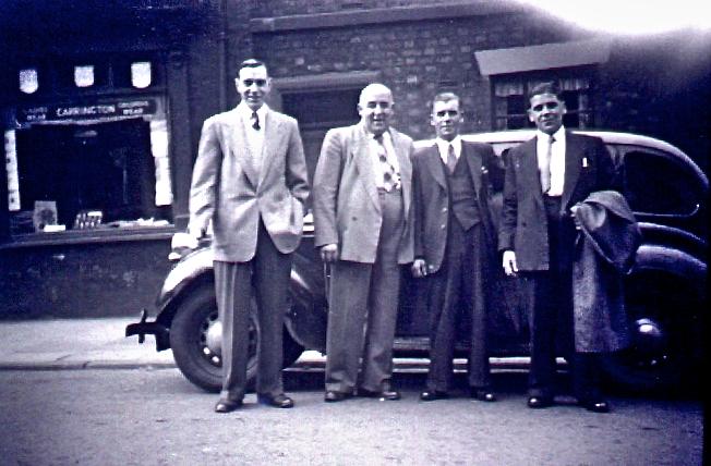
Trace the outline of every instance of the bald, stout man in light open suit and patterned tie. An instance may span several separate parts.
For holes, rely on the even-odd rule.
[[[360,123],[326,134],[314,174],[315,246],[332,265],[326,402],[356,389],[362,396],[400,397],[390,377],[399,265],[413,258],[414,149],[410,137],[389,126],[393,108],[390,89],[366,86]]]

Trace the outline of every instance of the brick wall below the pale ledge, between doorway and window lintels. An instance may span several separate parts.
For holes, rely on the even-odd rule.
[[[491,85],[478,70],[475,51],[569,37],[561,27],[521,14],[496,14],[263,33],[254,35],[253,45],[275,77],[378,71],[395,95],[396,126],[422,138],[432,134],[429,102],[443,89],[462,98],[466,132],[492,127]]]

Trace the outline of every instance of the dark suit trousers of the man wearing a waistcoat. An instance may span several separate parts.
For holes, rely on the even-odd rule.
[[[457,329],[471,322],[468,380],[472,388],[490,385],[486,347],[486,306],[483,265],[486,257],[481,223],[468,231],[453,216],[449,219],[445,259],[431,275],[427,299],[431,318],[427,389],[447,391],[451,385]]]

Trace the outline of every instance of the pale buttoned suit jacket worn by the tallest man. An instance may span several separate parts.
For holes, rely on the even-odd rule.
[[[190,189],[190,229],[206,229],[213,221],[215,260],[251,260],[260,218],[279,252],[293,252],[301,240],[309,182],[299,126],[273,110],[264,125],[257,173],[237,108],[203,124]]]

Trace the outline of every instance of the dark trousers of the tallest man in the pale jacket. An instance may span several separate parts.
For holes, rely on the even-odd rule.
[[[244,397],[253,295],[260,327],[256,391],[268,395],[282,393],[284,315],[290,273],[291,255],[279,253],[261,221],[252,260],[215,261],[217,309],[222,323],[222,398]]]

